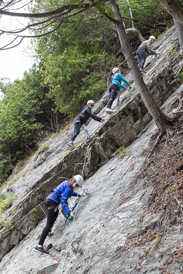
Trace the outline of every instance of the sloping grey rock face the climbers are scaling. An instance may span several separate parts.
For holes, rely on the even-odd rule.
[[[183,89],[179,79],[179,74],[183,71],[183,58],[179,54],[171,53],[175,48],[179,50],[175,29],[165,33],[154,48],[158,48],[161,55],[157,60],[154,56],[147,58],[148,72],[144,81],[166,113]],[[105,114],[108,96],[106,91],[94,110],[105,118],[105,122],[91,120],[87,125],[90,136],[81,131],[76,139],[79,145],[77,149],[65,151],[73,131],[73,125],[70,125],[36,161],[30,160],[20,172],[20,179],[10,186],[19,198],[8,211],[10,213],[16,209],[12,217],[14,226],[0,233],[2,274],[23,273],[19,269],[31,274],[61,273],[65,258],[63,250],[69,238],[72,221],[67,221],[63,226],[64,217],[59,214],[52,236],[45,241],[51,256],[41,256],[33,252],[33,248],[45,226],[46,196],[64,178],[82,173],[89,143],[91,144],[83,170],[86,178],[83,188],[87,188],[90,195],[80,200],[72,233],[72,240],[80,241],[83,254],[69,254],[64,273],[134,273],[132,265],[137,265],[141,257],[149,265],[165,264],[167,253],[182,241],[180,233],[174,230],[161,239],[163,245],[156,251],[151,242],[143,248],[136,247],[128,251],[125,249],[131,239],[141,236],[147,229],[154,229],[158,219],[156,214],[143,215],[153,187],[144,188],[143,182],[131,187],[133,177],[143,165],[141,149],[148,146],[157,127],[140,98],[131,73],[126,78],[131,83],[132,90],[121,95],[119,109],[113,115]],[[117,99],[113,103],[114,110],[116,102]],[[143,133],[136,138],[149,121]],[[118,160],[114,156],[121,146],[127,147],[127,153]],[[74,201],[74,198],[70,199],[70,208]],[[68,250],[71,250],[70,244]],[[142,256],[147,250],[150,256]],[[181,269],[177,269],[175,273],[181,273],[180,271]],[[141,273],[150,273],[150,270],[142,269]],[[159,274],[159,270],[155,269],[154,273]]]

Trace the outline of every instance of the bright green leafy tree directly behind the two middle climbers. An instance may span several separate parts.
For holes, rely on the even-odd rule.
[[[77,48],[65,49],[55,57],[47,56],[44,83],[61,113],[73,116],[90,98],[105,91],[105,71],[115,63],[106,52],[79,54]]]

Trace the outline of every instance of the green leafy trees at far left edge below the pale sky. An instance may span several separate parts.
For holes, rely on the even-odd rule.
[[[0,100],[0,178],[10,175],[13,165],[24,156],[25,147],[43,127],[38,119],[48,100],[36,72],[34,67],[25,72],[23,80],[0,83],[4,93]]]

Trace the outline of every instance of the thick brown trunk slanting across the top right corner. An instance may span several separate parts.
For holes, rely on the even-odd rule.
[[[159,2],[173,18],[183,24],[183,9],[176,0],[159,0]]]

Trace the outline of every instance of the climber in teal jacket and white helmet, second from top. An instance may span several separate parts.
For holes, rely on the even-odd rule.
[[[123,90],[131,90],[131,85],[129,84],[129,82],[125,79],[125,77],[123,77],[123,75],[121,74],[121,71],[119,68],[113,68],[112,69],[112,85],[109,87],[109,101],[107,104],[107,108],[105,110],[106,113],[108,114],[112,114],[113,111],[111,110],[111,106],[112,103],[114,102],[116,95],[118,93],[118,91],[120,91],[121,89]],[[127,84],[127,86],[129,86],[129,88],[127,89],[126,87],[124,87],[121,84],[121,81],[125,82],[125,84]]]

